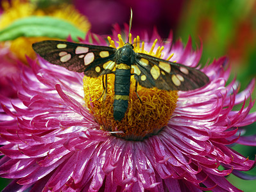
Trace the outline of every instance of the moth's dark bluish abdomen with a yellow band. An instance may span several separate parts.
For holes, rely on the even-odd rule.
[[[121,121],[128,108],[130,93],[131,70],[115,69],[114,119]]]

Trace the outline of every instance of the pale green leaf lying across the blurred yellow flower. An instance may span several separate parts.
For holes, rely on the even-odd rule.
[[[49,16],[31,16],[15,20],[10,26],[0,31],[0,41],[14,40],[20,36],[67,39],[71,35],[74,41],[84,38],[85,32],[62,19]]]

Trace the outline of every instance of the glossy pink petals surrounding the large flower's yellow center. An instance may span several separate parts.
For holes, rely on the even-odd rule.
[[[185,47],[169,41],[157,43],[165,46],[164,59],[174,53],[171,61],[198,65],[201,49],[192,51],[191,40]],[[142,141],[101,129],[83,100],[83,74],[40,58],[40,65],[29,58],[28,63],[31,68],[20,66],[13,81],[18,98],[0,97],[0,175],[13,179],[4,191],[239,191],[225,176],[255,164],[227,146],[241,140],[237,127],[255,122],[256,113],[249,114],[255,81],[240,93],[235,80],[226,85],[226,58],[201,69],[210,83],[178,92],[167,125]],[[237,104],[242,108],[232,111]]]

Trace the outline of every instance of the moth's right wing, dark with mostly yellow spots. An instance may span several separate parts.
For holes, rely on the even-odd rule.
[[[200,88],[209,78],[192,67],[161,60],[148,54],[136,53],[132,65],[136,81],[146,88],[188,91]]]

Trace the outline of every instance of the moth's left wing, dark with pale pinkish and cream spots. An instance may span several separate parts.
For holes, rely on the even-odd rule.
[[[117,50],[112,47],[55,40],[37,42],[32,47],[49,63],[60,65],[74,72],[84,72],[90,77],[111,73],[115,66]]]

